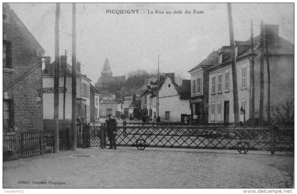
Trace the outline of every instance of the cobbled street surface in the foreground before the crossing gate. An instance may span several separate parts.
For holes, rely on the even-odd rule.
[[[294,157],[268,153],[78,148],[3,162],[3,188],[292,188]]]

